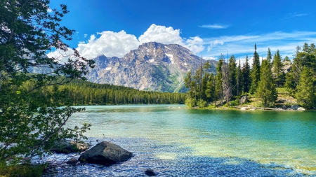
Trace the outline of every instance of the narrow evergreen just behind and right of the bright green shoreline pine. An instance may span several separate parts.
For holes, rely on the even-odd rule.
[[[284,69],[283,69],[283,64],[281,60],[281,56],[279,55],[279,50],[275,53],[273,56],[273,61],[272,61],[272,71],[273,71],[273,76],[275,80],[275,84],[277,87],[280,87],[284,85],[285,81],[285,76],[284,76]]]

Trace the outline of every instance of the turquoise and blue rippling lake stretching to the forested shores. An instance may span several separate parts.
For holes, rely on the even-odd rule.
[[[111,141],[135,156],[110,167],[62,165],[45,176],[145,176],[146,169],[157,176],[316,176],[315,111],[85,107],[67,126],[90,122],[88,141]]]

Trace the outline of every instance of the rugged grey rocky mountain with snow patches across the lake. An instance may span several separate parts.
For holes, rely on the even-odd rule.
[[[123,85],[138,90],[181,92],[185,89],[187,71],[194,73],[201,59],[178,44],[143,43],[121,58],[105,55],[94,58],[96,66],[90,69],[87,78],[93,83]],[[202,62],[206,60],[202,59]],[[216,61],[209,62],[209,71],[215,73]]]

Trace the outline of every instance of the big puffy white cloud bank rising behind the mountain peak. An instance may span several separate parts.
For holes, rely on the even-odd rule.
[[[84,36],[87,35],[84,34]],[[80,41],[76,49],[81,56],[87,59],[92,59],[101,54],[107,57],[123,57],[130,50],[137,49],[139,45],[147,42],[175,43],[188,48],[195,54],[204,50],[202,38],[195,36],[185,39],[180,36],[180,29],[156,24],[152,24],[139,38],[136,38],[133,34],[126,34],[123,30],[119,32],[103,31],[97,33],[97,35],[92,34],[88,41]],[[51,55],[58,54],[52,52]]]

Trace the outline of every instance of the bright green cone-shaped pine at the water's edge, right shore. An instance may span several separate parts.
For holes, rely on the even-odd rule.
[[[257,94],[261,99],[264,107],[271,107],[275,105],[277,100],[277,90],[273,83],[272,71],[267,59],[264,59],[261,66],[261,80],[258,83]]]

